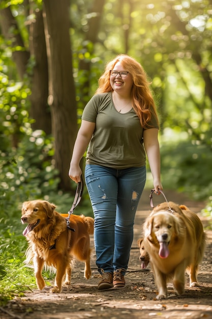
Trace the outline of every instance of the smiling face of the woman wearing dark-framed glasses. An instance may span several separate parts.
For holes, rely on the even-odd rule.
[[[127,71],[124,69],[123,65],[120,62],[117,62],[113,68],[113,71]],[[112,89],[122,95],[130,96],[131,89],[133,86],[132,75],[128,73],[126,77],[121,77],[118,73],[116,76],[110,75],[110,85]]]

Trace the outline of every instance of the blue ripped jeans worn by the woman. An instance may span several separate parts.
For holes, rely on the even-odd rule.
[[[96,264],[100,273],[124,269],[133,242],[138,202],[146,181],[146,167],[113,169],[85,166],[85,182],[92,203],[95,228]]]

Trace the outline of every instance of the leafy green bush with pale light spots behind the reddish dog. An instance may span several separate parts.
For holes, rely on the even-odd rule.
[[[53,201],[61,212],[69,210],[73,196],[58,190],[59,178],[52,155],[52,138],[38,130],[25,136],[18,149],[8,155],[0,151],[1,211],[7,214],[17,204],[20,206],[23,201],[33,199]],[[87,203],[86,190],[83,197]],[[84,208],[83,214],[90,215],[90,207]]]

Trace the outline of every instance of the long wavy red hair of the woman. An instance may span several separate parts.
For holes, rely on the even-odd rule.
[[[118,55],[115,59],[108,62],[105,71],[99,78],[99,87],[95,94],[112,92],[110,85],[110,70],[113,70],[116,63],[120,62],[125,71],[128,71],[133,78],[133,86],[131,90],[132,105],[135,113],[140,119],[141,125],[144,128],[149,128],[152,113],[158,120],[156,105],[153,99],[152,92],[149,89],[150,83],[147,80],[147,75],[135,59],[128,55]]]

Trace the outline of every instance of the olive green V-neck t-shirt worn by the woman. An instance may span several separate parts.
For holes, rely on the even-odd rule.
[[[143,127],[133,108],[128,113],[119,113],[114,107],[112,93],[100,93],[86,104],[82,120],[96,123],[86,164],[115,169],[145,166]],[[154,114],[148,124],[158,128]]]

